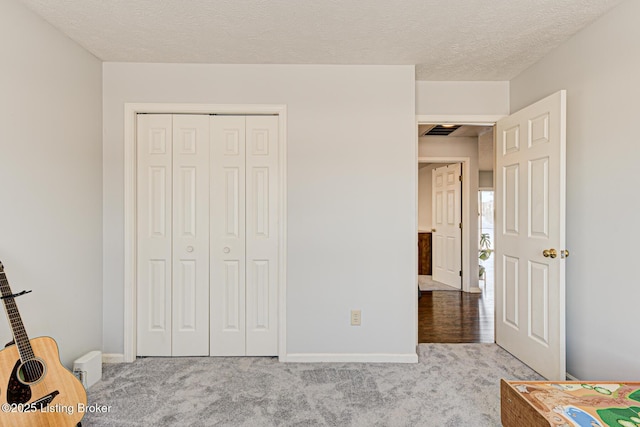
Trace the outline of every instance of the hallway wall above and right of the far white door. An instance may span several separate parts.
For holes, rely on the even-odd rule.
[[[478,259],[478,138],[469,136],[425,136],[418,140],[418,157],[469,157],[471,194],[467,213],[471,218],[471,228],[469,229],[469,259]],[[441,165],[436,165],[441,166]],[[464,209],[464,206],[463,206]],[[471,262],[470,286],[478,286],[478,263]]]

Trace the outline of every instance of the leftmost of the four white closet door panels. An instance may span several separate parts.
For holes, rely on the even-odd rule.
[[[171,356],[172,118],[137,119],[137,354]]]

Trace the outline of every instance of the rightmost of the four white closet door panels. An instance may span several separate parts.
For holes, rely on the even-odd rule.
[[[246,119],[247,356],[278,354],[278,117]]]

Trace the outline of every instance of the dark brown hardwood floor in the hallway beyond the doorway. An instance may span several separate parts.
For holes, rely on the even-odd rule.
[[[418,342],[494,342],[493,286],[482,294],[426,291],[418,303]]]

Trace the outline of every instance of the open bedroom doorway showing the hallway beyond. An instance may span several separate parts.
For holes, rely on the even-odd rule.
[[[447,164],[459,162],[462,166],[462,186],[459,200],[461,209],[460,236],[461,246],[457,256],[461,260],[461,286],[447,288],[433,283],[433,275],[418,275],[419,285],[427,282],[428,286],[420,286],[421,297],[418,302],[418,342],[419,343],[493,343],[494,342],[494,306],[493,287],[485,286],[481,280],[482,263],[480,256],[482,203],[479,190],[493,191],[494,166],[494,123],[478,124],[426,124],[418,125],[418,244],[422,249],[431,232],[433,241],[435,213],[425,215],[426,211],[434,212],[433,204],[437,200],[425,197],[433,194],[433,189],[425,191],[427,182],[425,175],[433,174],[431,170]],[[452,129],[450,132],[448,130]],[[492,193],[491,193],[492,194]],[[487,196],[488,197],[488,196]],[[447,197],[444,199],[447,201]],[[456,200],[454,199],[454,202]],[[487,213],[493,218],[493,213]],[[490,226],[493,227],[493,221]],[[492,237],[492,235],[490,235]],[[493,241],[492,241],[493,242]],[[425,260],[419,249],[419,273],[425,273]],[[442,259],[437,251],[447,250],[446,246],[431,244],[431,268],[435,259]],[[451,248],[448,248],[450,250]],[[491,247],[493,249],[493,247]],[[488,266],[488,263],[487,263]],[[423,267],[423,268],[421,268]],[[485,274],[487,268],[485,267]],[[493,273],[493,270],[490,271]],[[425,280],[425,278],[429,280]],[[484,276],[487,282],[492,276]],[[434,286],[435,285],[435,286]]]

